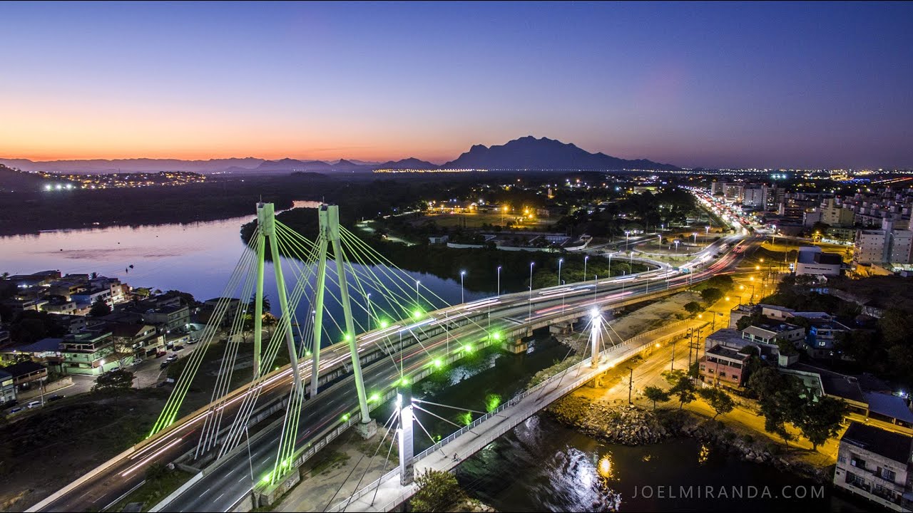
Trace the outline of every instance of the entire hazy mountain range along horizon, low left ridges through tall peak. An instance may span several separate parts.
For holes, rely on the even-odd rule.
[[[545,137],[521,137],[502,145],[476,144],[455,160],[435,164],[415,157],[400,161],[364,162],[340,159],[314,161],[279,159],[268,161],[255,157],[184,161],[178,159],[116,159],[33,162],[27,159],[0,159],[0,163],[22,171],[50,173],[156,173],[188,171],[194,173],[369,173],[376,169],[487,169],[487,170],[656,170],[677,171],[668,163],[645,159],[625,160],[603,152],[591,153],[571,143]]]

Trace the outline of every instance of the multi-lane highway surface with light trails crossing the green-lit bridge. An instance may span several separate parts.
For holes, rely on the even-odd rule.
[[[732,236],[708,246],[693,261],[694,265],[690,266],[691,276],[670,269],[658,269],[635,276],[606,278],[600,280],[598,284],[594,284],[592,281],[578,282],[561,287],[537,289],[532,292],[531,301],[528,291],[502,295],[428,312],[420,321],[406,325],[394,324],[383,330],[373,330],[358,336],[356,340],[360,351],[364,351],[365,348],[382,339],[397,342],[402,335],[405,340],[408,340],[412,333],[426,329],[423,327],[443,323],[445,319],[454,320],[461,315],[488,312],[488,310],[490,310],[488,316],[491,332],[517,326],[518,321],[522,323],[530,320],[528,315],[530,311],[531,320],[559,316],[562,310],[569,312],[576,310],[580,311],[582,315],[592,308],[594,303],[633,298],[644,295],[646,291],[675,287],[687,283],[688,280],[696,282],[724,272],[737,263],[738,256],[726,253],[714,260],[712,255],[719,251],[722,244],[737,246],[739,241],[740,237]],[[696,268],[701,263],[706,267]],[[594,287],[596,288],[595,293]],[[429,340],[424,340],[421,344],[408,345],[401,353],[394,355],[394,360],[397,363],[402,360],[405,374],[416,372],[424,366],[433,364],[448,350],[450,353],[462,351],[460,347],[462,344],[472,344],[477,340],[484,340],[488,336],[489,330],[488,319],[485,322],[484,326],[470,323],[450,330],[449,336],[442,333]],[[337,369],[350,360],[345,343],[325,348],[321,356],[322,373]],[[300,369],[302,378],[308,382],[310,361],[301,363]],[[373,392],[389,390],[399,379],[398,366],[394,366],[390,358],[374,361],[364,368],[363,373],[369,395]],[[290,383],[288,367],[273,372],[263,385],[263,392],[258,403],[271,402],[288,395]],[[227,425],[227,422],[233,419],[243,396],[244,393],[238,393],[226,404],[223,425]],[[307,446],[316,434],[328,426],[340,422],[342,414],[351,412],[356,404],[357,397],[355,388],[352,386],[351,375],[340,382],[331,384],[326,390],[321,389],[317,397],[307,401],[303,407],[299,419],[297,446]],[[79,486],[72,487],[47,504],[41,504],[41,508],[36,510],[84,511],[109,506],[132,487],[142,482],[148,466],[153,463],[170,463],[188,450],[192,450],[198,441],[205,415],[206,412],[198,411],[198,413],[185,416],[170,429],[141,444],[132,454],[121,457],[113,466],[100,472],[98,476],[86,480]],[[235,455],[219,462],[215,470],[206,474],[183,495],[176,497],[168,510],[226,511],[246,497],[252,486],[251,468],[254,480],[267,475],[273,468],[278,452],[280,427],[277,424],[269,429],[274,433],[255,436],[250,444],[250,464],[246,461],[247,450],[236,451]],[[241,443],[245,444],[245,441],[242,439]]]

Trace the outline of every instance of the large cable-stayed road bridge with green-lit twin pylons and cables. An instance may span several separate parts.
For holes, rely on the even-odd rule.
[[[602,309],[685,288],[736,260],[731,254],[703,257],[703,265],[696,260],[684,267],[687,274],[658,269],[594,277],[448,305],[342,227],[335,205],[322,205],[319,216],[319,236],[310,241],[279,223],[271,204],[257,204],[250,250],[231,273],[200,346],[188,357],[149,438],[30,510],[106,508],[141,483],[149,466],[176,460],[204,471],[163,501],[163,510],[226,511],[252,492],[276,497],[294,484],[297,466],[345,429],[373,436],[378,430],[370,416],[373,408],[397,393],[408,394],[411,382],[436,368],[491,345],[526,351],[523,340],[532,330],[597,319]],[[707,255],[724,244],[735,246],[739,238],[715,243]],[[279,255],[289,257],[290,268],[283,269]],[[274,330],[264,338],[267,267],[276,276],[280,310]],[[340,310],[341,316],[330,314]],[[251,321],[251,381],[232,390],[243,331]],[[331,338],[336,333],[341,340]],[[606,335],[600,350],[613,345],[611,333]],[[211,401],[188,412],[184,400],[218,340],[226,343]],[[296,364],[277,368],[283,357]],[[284,412],[280,421],[261,424],[276,412]],[[396,419],[402,421],[400,415]],[[394,423],[383,424],[384,435]]]

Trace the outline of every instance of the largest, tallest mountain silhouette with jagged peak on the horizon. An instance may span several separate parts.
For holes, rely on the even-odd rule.
[[[476,144],[454,161],[446,162],[446,169],[527,169],[527,170],[657,170],[677,171],[672,164],[645,159],[625,160],[591,153],[577,146],[542,137],[528,135],[500,146]]]

